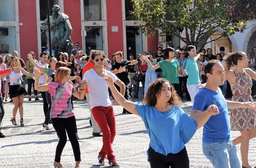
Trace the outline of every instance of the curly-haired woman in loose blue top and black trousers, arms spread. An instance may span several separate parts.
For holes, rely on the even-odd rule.
[[[173,85],[164,78],[148,86],[143,104],[124,99],[110,76],[105,75],[105,80],[117,103],[142,118],[150,136],[147,154],[151,167],[189,167],[185,144],[210,116],[219,113],[218,107],[210,105],[203,112],[204,117],[194,120],[184,113]]]

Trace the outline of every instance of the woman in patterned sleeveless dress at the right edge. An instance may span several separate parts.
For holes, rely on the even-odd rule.
[[[252,80],[256,73],[248,67],[248,58],[244,52],[237,51],[225,57],[226,80],[232,90],[232,101],[252,102]],[[233,69],[232,66],[235,65]],[[256,136],[256,110],[249,108],[232,108],[230,111],[230,126],[232,131],[239,130],[241,136],[233,140],[235,145],[241,143],[242,166],[251,167],[248,163],[249,140]]]

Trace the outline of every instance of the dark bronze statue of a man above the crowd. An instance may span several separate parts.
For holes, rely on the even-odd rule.
[[[69,22],[68,15],[59,12],[60,8],[58,5],[52,7],[53,14],[50,16],[51,29],[51,46],[57,54],[58,52],[71,53],[73,43],[70,38],[72,32],[72,26]],[[45,20],[47,22],[47,19]],[[41,26],[42,30],[48,31],[47,25]],[[48,34],[48,33],[47,33]],[[48,37],[49,38],[49,37]]]

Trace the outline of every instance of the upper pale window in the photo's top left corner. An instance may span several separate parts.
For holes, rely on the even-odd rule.
[[[15,21],[14,0],[0,0],[0,21]]]

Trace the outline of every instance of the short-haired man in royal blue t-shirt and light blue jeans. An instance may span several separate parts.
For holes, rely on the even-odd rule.
[[[238,158],[237,148],[231,141],[228,108],[251,108],[251,102],[233,102],[225,100],[219,86],[224,84],[224,68],[218,60],[211,60],[204,66],[207,82],[195,97],[195,103],[190,117],[202,118],[202,112],[210,104],[218,106],[220,113],[211,116],[203,128],[203,153],[214,167],[238,167],[241,163]]]

